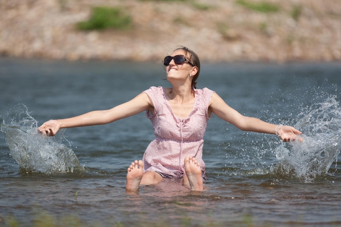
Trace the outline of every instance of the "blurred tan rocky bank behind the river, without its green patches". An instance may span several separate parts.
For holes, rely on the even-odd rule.
[[[341,1],[264,1],[279,10],[236,0],[1,0],[0,55],[161,61],[185,45],[208,62],[341,61]],[[132,27],[78,30],[94,6],[121,7]]]

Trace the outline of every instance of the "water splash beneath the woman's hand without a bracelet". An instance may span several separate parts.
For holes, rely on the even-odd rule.
[[[25,106],[26,108],[26,106]],[[21,120],[18,121],[18,118]],[[73,150],[64,143],[63,130],[55,137],[44,136],[37,130],[37,121],[26,111],[11,117],[1,126],[11,156],[26,173],[81,173],[84,171]]]

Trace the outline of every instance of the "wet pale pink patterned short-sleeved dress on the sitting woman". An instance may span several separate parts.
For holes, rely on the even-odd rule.
[[[202,176],[206,179],[203,138],[211,117],[208,116],[208,105],[214,91],[194,89],[193,110],[185,119],[174,115],[163,87],[151,87],[144,92],[154,104],[154,113],[147,110],[145,116],[153,123],[155,139],[144,152],[143,171],[157,172],[163,178],[182,178],[185,175],[183,159],[191,155],[200,163]]]

